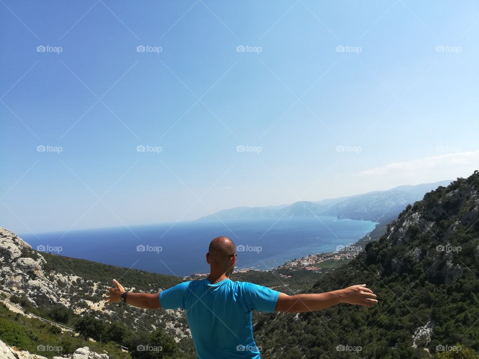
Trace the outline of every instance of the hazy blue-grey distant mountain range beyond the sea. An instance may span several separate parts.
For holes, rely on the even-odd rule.
[[[388,223],[408,205],[424,194],[452,180],[417,185],[401,185],[388,190],[373,191],[352,196],[328,198],[320,201],[298,201],[267,207],[235,207],[224,209],[198,220],[229,220],[252,218],[314,217],[320,215],[338,218],[372,220]]]

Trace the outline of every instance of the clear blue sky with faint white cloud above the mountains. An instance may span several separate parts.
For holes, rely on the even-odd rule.
[[[479,169],[477,1],[0,1],[0,225],[192,220]]]

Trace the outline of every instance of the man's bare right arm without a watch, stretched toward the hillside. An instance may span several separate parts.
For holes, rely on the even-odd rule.
[[[361,284],[326,293],[296,294],[294,296],[279,293],[274,311],[313,312],[340,303],[372,307],[377,302],[376,294],[371,289],[366,288],[366,284]]]

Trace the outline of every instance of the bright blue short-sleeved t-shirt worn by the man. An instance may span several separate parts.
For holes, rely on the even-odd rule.
[[[180,283],[160,292],[164,309],[186,309],[198,359],[259,359],[251,311],[274,312],[279,292],[230,279]]]

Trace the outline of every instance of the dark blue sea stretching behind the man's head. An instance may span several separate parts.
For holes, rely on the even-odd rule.
[[[33,249],[179,277],[208,273],[205,254],[219,235],[237,245],[237,269],[268,270],[363,237],[376,222],[336,217],[178,222],[20,235]]]

